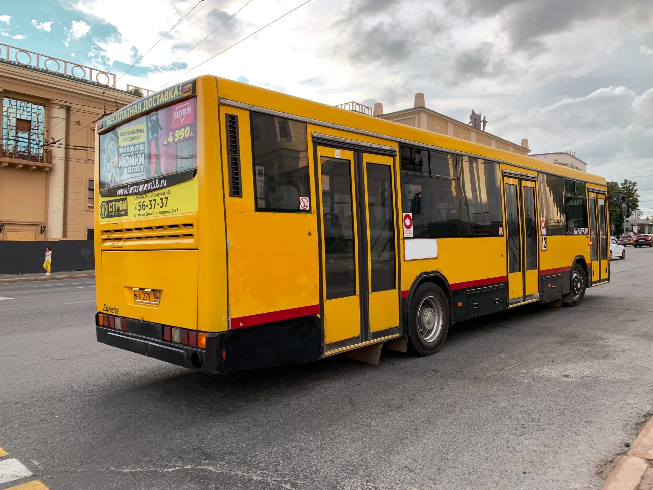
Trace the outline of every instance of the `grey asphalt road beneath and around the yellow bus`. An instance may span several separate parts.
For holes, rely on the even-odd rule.
[[[627,253],[432,357],[227,376],[98,344],[92,280],[0,285],[0,446],[51,490],[596,489],[652,411],[653,249]]]

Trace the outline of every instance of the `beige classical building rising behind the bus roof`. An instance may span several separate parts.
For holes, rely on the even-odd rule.
[[[413,108],[389,112],[388,114],[383,114],[383,104],[380,102],[374,104],[374,109],[353,102],[341,104],[339,107],[356,110],[357,112],[363,112],[364,114],[370,114],[377,118],[419,127],[421,129],[433,131],[434,133],[441,133],[454,138],[460,138],[479,144],[486,144],[487,146],[499,148],[500,150],[505,150],[507,152],[513,152],[520,155],[528,155],[528,152],[530,152],[527,139],[522,139],[521,144],[513,143],[487,133],[486,131],[483,131],[481,127],[475,127],[468,123],[460,122],[427,108],[424,101],[424,94],[421,92],[415,94]]]

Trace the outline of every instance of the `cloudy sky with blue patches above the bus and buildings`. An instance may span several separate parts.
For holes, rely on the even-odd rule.
[[[637,180],[653,214],[653,1],[305,1],[4,2],[0,42],[118,75],[147,52],[119,87],[212,73],[386,112],[422,91],[429,108],[464,122],[473,108],[535,153],[574,150],[590,171]]]

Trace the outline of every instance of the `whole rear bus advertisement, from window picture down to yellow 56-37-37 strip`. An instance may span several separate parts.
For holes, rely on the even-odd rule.
[[[196,112],[187,99],[101,135],[101,221],[197,211]]]

